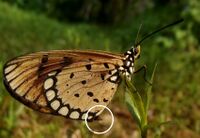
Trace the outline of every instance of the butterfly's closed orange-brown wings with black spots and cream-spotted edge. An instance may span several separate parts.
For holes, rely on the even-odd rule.
[[[111,101],[122,58],[92,51],[33,53],[5,64],[4,84],[13,97],[32,109],[83,120],[89,108]],[[99,111],[90,112],[89,119]]]

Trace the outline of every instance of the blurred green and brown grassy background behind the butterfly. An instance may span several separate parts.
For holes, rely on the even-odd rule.
[[[164,138],[200,137],[200,1],[198,0],[0,0],[0,78],[12,57],[52,49],[93,49],[123,53],[135,42],[179,18],[185,21],[142,43],[136,68],[146,64],[153,84],[149,121],[175,120],[149,132]],[[142,74],[134,76],[143,91]],[[118,92],[109,106],[116,117],[106,135],[88,135],[80,121],[45,115],[14,100],[0,83],[1,138],[137,137]]]

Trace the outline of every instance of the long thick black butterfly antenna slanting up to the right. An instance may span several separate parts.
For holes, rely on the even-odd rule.
[[[168,25],[166,25],[166,26],[163,26],[163,27],[159,28],[158,30],[156,30],[156,31],[154,31],[154,32],[152,32],[152,33],[147,34],[146,36],[143,37],[142,40],[140,40],[140,41],[137,43],[137,45],[141,44],[145,39],[149,38],[150,36],[152,36],[152,35],[154,35],[154,34],[160,32],[160,31],[162,31],[162,30],[164,30],[164,29],[166,29],[166,28],[168,28],[168,27],[171,27],[171,26],[174,26],[174,25],[176,25],[176,24],[179,24],[179,23],[181,23],[181,22],[183,22],[183,21],[184,21],[183,19],[177,20],[177,21],[175,21],[175,22],[173,22],[173,23],[170,23],[170,24],[168,24]],[[137,46],[137,45],[136,45],[136,46]]]

